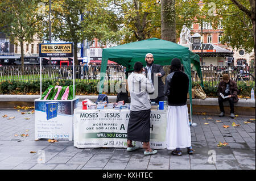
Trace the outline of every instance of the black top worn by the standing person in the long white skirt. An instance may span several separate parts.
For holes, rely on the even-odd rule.
[[[187,104],[188,84],[188,76],[182,71],[175,71],[167,75],[164,95],[168,97],[169,106]]]

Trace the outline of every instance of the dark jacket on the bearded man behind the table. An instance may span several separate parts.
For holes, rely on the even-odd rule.
[[[146,77],[147,77],[147,68],[145,68],[145,73],[146,73]],[[157,88],[155,87],[156,85],[154,84],[154,77],[155,77],[154,73],[161,73],[162,77],[166,73],[163,70],[163,66],[162,65],[152,64],[151,79],[152,79],[152,83],[154,85],[155,90],[157,90]],[[164,96],[164,83],[162,81],[162,77],[158,77],[158,98],[161,97],[161,96]]]

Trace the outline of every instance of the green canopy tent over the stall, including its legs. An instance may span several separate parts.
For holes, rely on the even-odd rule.
[[[104,48],[101,61],[100,94],[102,93],[104,86],[108,60],[117,62],[118,64],[125,66],[126,71],[130,71],[133,70],[133,66],[137,61],[142,62],[142,64],[146,66],[145,56],[147,53],[152,53],[154,55],[154,64],[170,65],[173,58],[179,58],[181,60],[181,64],[184,65],[184,71],[189,77],[189,98],[192,112],[191,64],[195,66],[201,79],[201,85],[203,86],[199,56],[191,52],[187,47],[156,38],[135,41],[133,43],[127,43],[111,48]]]

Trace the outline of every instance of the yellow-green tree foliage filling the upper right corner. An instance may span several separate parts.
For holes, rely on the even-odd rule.
[[[213,22],[214,28],[217,28],[220,23],[224,27],[224,36],[222,36],[221,39],[222,44],[228,44],[236,49],[243,48],[248,53],[254,49],[255,35],[253,22],[245,12],[241,11],[230,0],[204,0],[203,2],[205,3],[205,10],[209,11],[213,9],[213,6],[209,6],[210,3],[215,7],[214,16],[209,16],[208,19],[210,22]],[[245,9],[251,11],[250,1],[241,0],[239,3],[245,7]],[[253,17],[253,15],[251,15],[251,17]]]

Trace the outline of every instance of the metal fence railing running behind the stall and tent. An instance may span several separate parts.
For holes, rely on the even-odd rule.
[[[163,66],[166,75],[170,69],[169,66]],[[92,66],[75,66],[75,81],[99,81],[100,80],[100,65]],[[57,81],[59,79],[72,79],[73,77],[72,66],[42,66],[42,80]],[[216,86],[221,81],[224,73],[228,73],[230,79],[234,81],[240,80],[239,74],[244,76],[250,74],[255,78],[255,66],[201,66],[202,77],[204,84],[209,86]],[[106,70],[106,80],[123,81],[125,77],[125,68],[120,65],[110,65]],[[163,81],[166,75],[162,78]],[[22,81],[31,82],[39,81],[40,79],[40,66],[0,66],[0,82],[2,81]],[[199,75],[195,68],[191,67],[192,82],[200,82]],[[255,85],[255,79],[249,79],[250,83]]]

